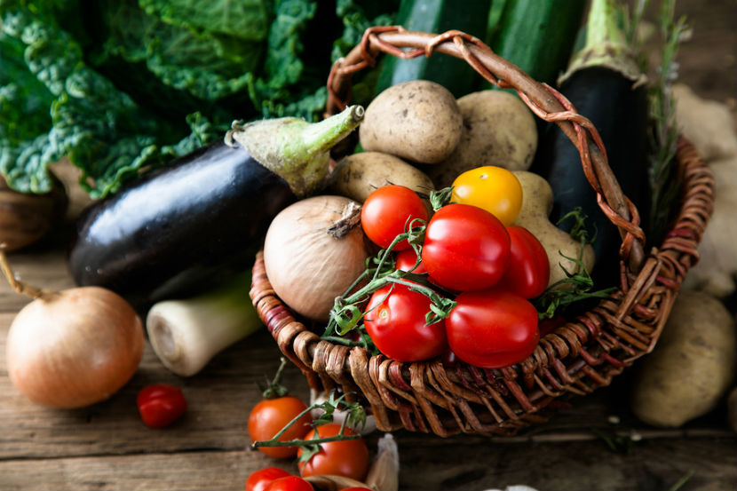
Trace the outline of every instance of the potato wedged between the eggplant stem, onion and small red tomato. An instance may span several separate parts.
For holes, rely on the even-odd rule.
[[[407,186],[422,194],[430,194],[432,181],[422,170],[399,157],[381,152],[348,155],[337,164],[330,177],[329,190],[364,202],[376,188],[390,184]]]

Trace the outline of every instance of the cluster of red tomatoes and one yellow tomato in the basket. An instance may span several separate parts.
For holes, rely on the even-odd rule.
[[[432,217],[405,186],[377,188],[364,202],[361,225],[368,239],[391,246],[398,269],[426,273],[430,284],[456,302],[447,317],[428,325],[431,298],[408,281],[392,282],[370,297],[364,326],[376,348],[394,360],[451,353],[481,368],[509,366],[527,358],[539,340],[530,299],[548,285],[547,253],[534,234],[513,225],[522,187],[511,171],[469,170],[452,190],[450,204]],[[419,261],[408,242],[392,245],[416,223],[426,224]]]

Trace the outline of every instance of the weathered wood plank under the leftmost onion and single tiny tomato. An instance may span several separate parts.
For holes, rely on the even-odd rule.
[[[89,408],[43,408],[12,387],[5,367],[5,330],[10,314],[0,314],[0,459],[236,449],[250,444],[245,423],[260,399],[258,383],[273,376],[279,352],[265,331],[234,345],[197,376],[183,378],[164,368],[147,344],[138,372],[111,399]],[[141,423],[136,394],[147,384],[175,384],[188,400],[186,416],[165,430]],[[307,397],[297,368],[283,383]]]

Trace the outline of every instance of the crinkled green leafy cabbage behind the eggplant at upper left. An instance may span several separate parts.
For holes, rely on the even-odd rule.
[[[332,61],[396,4],[0,0],[0,173],[44,193],[67,156],[100,198],[235,119],[320,119]]]

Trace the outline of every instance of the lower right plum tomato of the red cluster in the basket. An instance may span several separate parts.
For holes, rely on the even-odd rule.
[[[460,360],[501,368],[525,360],[540,333],[537,311],[527,299],[499,288],[465,291],[446,319],[448,344]]]

